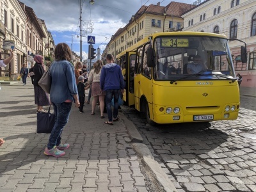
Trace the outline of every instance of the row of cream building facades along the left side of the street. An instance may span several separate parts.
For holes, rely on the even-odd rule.
[[[0,68],[0,80],[17,79],[24,63],[28,67],[34,63],[35,54],[45,56],[50,62],[54,60],[55,44],[44,20],[38,19],[33,8],[18,0],[0,0],[1,59],[10,52],[3,49],[4,40],[13,41],[15,51],[10,65]]]

